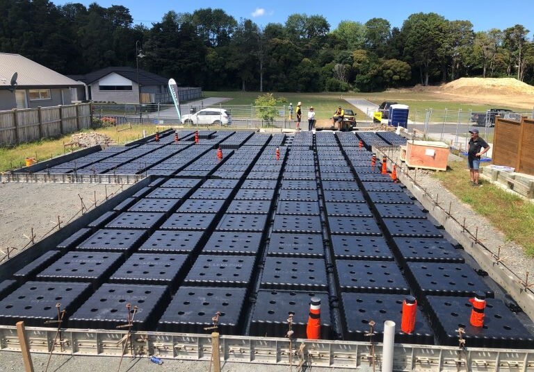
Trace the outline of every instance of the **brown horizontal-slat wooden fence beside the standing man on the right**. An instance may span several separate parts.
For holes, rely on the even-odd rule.
[[[497,117],[493,146],[493,164],[534,176],[534,119],[513,121]]]

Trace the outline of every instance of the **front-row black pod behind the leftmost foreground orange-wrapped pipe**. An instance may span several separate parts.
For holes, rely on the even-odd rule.
[[[291,327],[294,332],[293,337],[306,339],[309,302],[312,297],[321,299],[321,339],[330,339],[333,326],[327,293],[272,289],[261,289],[257,292],[250,321],[250,336],[286,337],[287,319],[291,313],[294,314]]]

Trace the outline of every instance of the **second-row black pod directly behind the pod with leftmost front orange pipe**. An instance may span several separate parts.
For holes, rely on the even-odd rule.
[[[267,257],[260,287],[327,291],[325,260],[305,257]]]

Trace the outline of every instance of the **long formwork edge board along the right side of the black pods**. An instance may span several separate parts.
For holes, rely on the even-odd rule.
[[[442,208],[439,208],[435,201],[430,200],[420,187],[414,185],[404,174],[399,174],[398,177],[423,207],[430,212],[430,215],[444,226],[447,233],[451,234],[454,239],[462,244],[465,251],[478,262],[480,267],[484,271],[487,271],[489,276],[512,296],[531,319],[534,319],[534,294],[526,291],[521,286],[518,278],[514,278],[511,274],[506,273],[503,267],[499,266],[494,260],[492,253],[478,246],[469,233],[464,231],[462,226],[451,219]]]

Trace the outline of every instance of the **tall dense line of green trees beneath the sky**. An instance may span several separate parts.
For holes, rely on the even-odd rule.
[[[475,33],[469,20],[410,15],[351,20],[337,28],[322,15],[292,14],[258,26],[223,9],[170,10],[151,28],[134,25],[124,6],[56,6],[49,0],[0,0],[0,51],[19,53],[61,74],[136,65],[206,90],[369,92],[435,84],[462,76],[512,76],[534,83],[534,43],[516,24]]]

